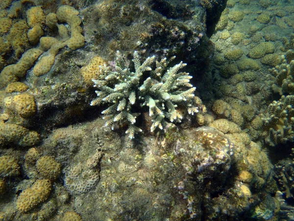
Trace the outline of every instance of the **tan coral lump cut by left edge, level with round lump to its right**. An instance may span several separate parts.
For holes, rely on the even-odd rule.
[[[0,157],[0,177],[17,176],[20,174],[17,160],[11,156]]]

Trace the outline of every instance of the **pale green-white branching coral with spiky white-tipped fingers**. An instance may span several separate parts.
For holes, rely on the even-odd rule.
[[[175,57],[172,57],[174,59]],[[186,66],[180,62],[167,69],[170,61],[166,58],[155,61],[156,68],[151,68],[155,56],[148,57],[142,64],[140,56],[134,52],[135,72],[131,72],[125,65],[123,56],[118,51],[116,57],[115,71],[106,65],[100,67],[100,76],[93,80],[98,98],[91,102],[91,106],[108,104],[108,108],[101,113],[106,120],[106,126],[110,125],[112,130],[116,122],[128,124],[126,134],[134,138],[134,134],[142,132],[136,127],[136,117],[140,115],[133,112],[132,107],[136,106],[149,108],[149,116],[152,125],[151,132],[156,128],[163,129],[165,119],[171,122],[181,122],[183,116],[179,107],[185,107],[189,114],[194,115],[198,109],[193,105],[194,91],[190,82],[192,76],[186,72],[179,72],[179,69]],[[145,77],[149,72],[149,77]]]

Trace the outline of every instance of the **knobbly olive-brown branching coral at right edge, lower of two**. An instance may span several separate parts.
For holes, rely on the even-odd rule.
[[[294,95],[273,101],[262,115],[263,137],[270,146],[294,141]]]

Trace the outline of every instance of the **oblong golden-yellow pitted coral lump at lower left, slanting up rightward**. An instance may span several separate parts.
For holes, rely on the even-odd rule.
[[[16,200],[16,208],[20,212],[28,212],[48,199],[51,183],[48,179],[37,180],[30,188],[25,189]]]

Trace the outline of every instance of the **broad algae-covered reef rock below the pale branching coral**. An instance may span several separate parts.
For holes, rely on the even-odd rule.
[[[211,127],[183,133],[170,128],[165,137],[136,144],[105,131],[103,123],[57,129],[44,140],[46,148],[58,146],[57,155],[69,159],[63,179],[83,220],[244,220],[263,202],[261,194],[274,200],[267,191],[271,165],[250,140]],[[252,162],[257,154],[263,159]],[[73,189],[80,183],[73,175],[91,187]]]

